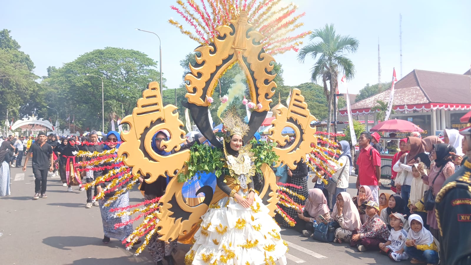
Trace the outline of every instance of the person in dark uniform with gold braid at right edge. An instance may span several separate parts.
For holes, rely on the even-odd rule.
[[[435,198],[442,236],[440,264],[446,265],[471,265],[471,129],[460,133],[468,157]]]

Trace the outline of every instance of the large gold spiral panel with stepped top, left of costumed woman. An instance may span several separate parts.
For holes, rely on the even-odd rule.
[[[132,115],[122,119],[122,124],[129,124],[128,132],[121,132],[123,143],[118,149],[118,155],[126,155],[123,162],[132,167],[133,172],[146,176],[146,182],[154,182],[160,176],[175,176],[176,171],[184,166],[190,156],[189,150],[176,152],[168,156],[161,156],[154,152],[151,146],[154,134],[165,130],[170,140],[162,141],[166,152],[178,151],[180,144],[185,141],[183,123],[178,118],[177,107],[167,105],[163,107],[159,83],[149,83],[142,97],[138,99],[137,107]]]

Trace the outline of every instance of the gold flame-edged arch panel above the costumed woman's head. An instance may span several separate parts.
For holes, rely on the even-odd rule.
[[[268,73],[273,70],[270,63],[275,59],[264,52],[260,43],[263,35],[247,23],[244,13],[229,25],[218,26],[216,30],[219,35],[210,45],[195,49],[200,56],[195,56],[195,66],[190,64],[191,72],[185,75],[188,102],[197,106],[209,106],[206,99],[212,96],[220,75],[239,63],[247,77],[252,102],[262,105],[261,109],[256,108],[255,111],[270,110],[271,97],[276,88],[273,79],[276,75]]]

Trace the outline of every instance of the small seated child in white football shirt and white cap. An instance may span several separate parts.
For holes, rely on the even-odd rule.
[[[381,253],[388,255],[394,261],[406,260],[407,254],[404,252],[406,244],[407,232],[402,228],[406,223],[404,215],[399,213],[390,214],[390,225],[392,227],[391,234],[386,243],[380,243]]]

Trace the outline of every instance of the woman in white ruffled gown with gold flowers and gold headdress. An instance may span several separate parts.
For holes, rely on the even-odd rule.
[[[278,260],[286,264],[280,227],[253,188],[254,158],[251,146],[244,146],[242,140],[249,127],[235,109],[228,110],[222,122],[226,165],[185,263],[261,265]]]

